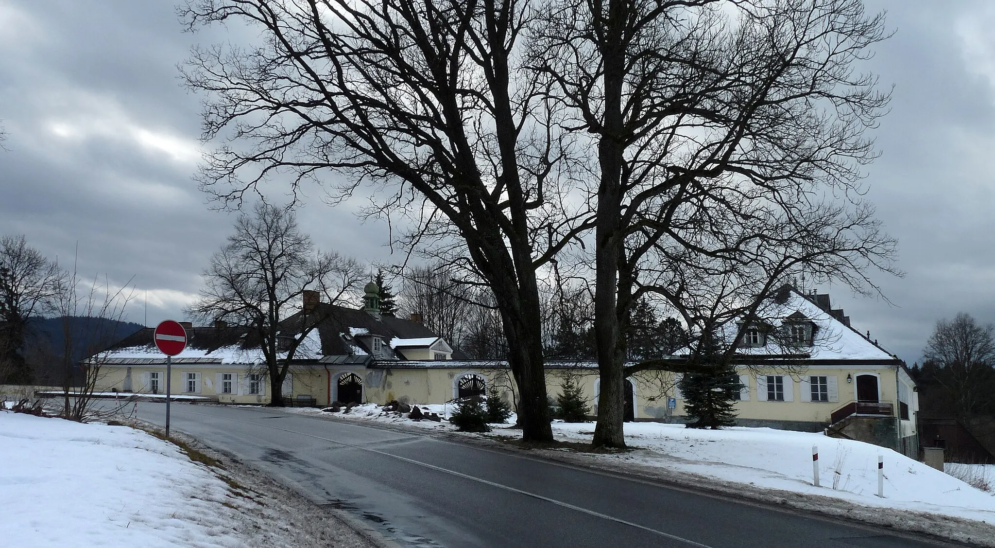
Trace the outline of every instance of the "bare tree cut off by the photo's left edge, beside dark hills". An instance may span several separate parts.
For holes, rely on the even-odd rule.
[[[0,384],[31,383],[23,355],[29,321],[53,310],[65,278],[24,235],[0,238]]]

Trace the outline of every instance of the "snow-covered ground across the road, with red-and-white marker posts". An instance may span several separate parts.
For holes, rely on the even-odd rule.
[[[419,406],[448,416],[453,406]],[[322,413],[317,410],[288,410]],[[335,416],[395,422],[455,431],[448,422],[412,421],[367,404]],[[512,417],[513,420],[513,417]],[[496,425],[497,426],[497,425]],[[505,425],[507,426],[507,425]],[[553,422],[557,440],[590,442],[594,424]],[[772,428],[731,427],[698,430],[683,424],[627,422],[626,443],[634,450],[591,453],[590,458],[639,464],[697,474],[763,489],[833,497],[871,507],[916,510],[995,523],[995,496],[896,451],[870,443]],[[520,436],[520,430],[496,427],[491,434]],[[813,485],[812,445],[819,448],[820,487]],[[878,456],[884,457],[885,497],[878,492]],[[990,471],[995,479],[995,469]],[[993,483],[995,485],[995,483]]]

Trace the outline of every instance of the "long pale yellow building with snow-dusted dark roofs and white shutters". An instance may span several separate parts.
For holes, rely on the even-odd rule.
[[[516,400],[506,363],[460,359],[417,315],[381,316],[375,299],[355,310],[308,298],[304,308],[312,314],[323,311],[324,319],[307,333],[291,362],[283,391],[293,403],[444,404],[492,386],[507,401]],[[828,295],[790,289],[758,317],[763,320],[729,325],[722,332],[729,341],[743,332],[734,358],[742,385],[738,424],[827,429],[917,455],[914,382],[896,357],[852,329],[842,311],[829,308]],[[270,401],[263,355],[248,328],[188,326],[187,332],[187,348],[173,358],[173,394],[230,404]],[[675,364],[686,360],[680,353],[665,357]],[[151,329],[90,361],[100,365],[98,390],[165,392],[165,360],[152,344]],[[550,397],[572,378],[597,412],[596,364],[547,362],[546,372]],[[644,371],[628,379],[627,419],[684,421],[679,378]]]

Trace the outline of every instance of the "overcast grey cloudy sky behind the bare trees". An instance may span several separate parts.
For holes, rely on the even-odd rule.
[[[895,36],[867,69],[895,86],[876,133],[870,199],[899,241],[893,304],[829,290],[858,330],[911,365],[934,322],[967,312],[995,321],[995,2],[869,2]],[[180,319],[234,214],[212,210],[191,175],[200,159],[199,98],[177,79],[193,44],[172,2],[0,0],[0,234],[79,271],[129,279],[128,319]],[[238,42],[238,40],[233,40]],[[311,189],[298,212],[324,250],[400,262],[388,230]],[[279,198],[279,196],[278,196]]]

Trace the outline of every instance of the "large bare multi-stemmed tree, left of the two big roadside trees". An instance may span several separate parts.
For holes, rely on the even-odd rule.
[[[461,248],[491,289],[522,435],[551,440],[535,270],[587,225],[563,199],[558,107],[518,58],[532,6],[203,0],[182,12],[191,28],[239,21],[265,37],[186,65],[188,85],[211,94],[204,137],[235,142],[204,166],[205,187],[238,200],[277,172],[297,184],[328,170],[351,176],[333,200],[375,185],[375,212],[411,214],[408,244]]]

